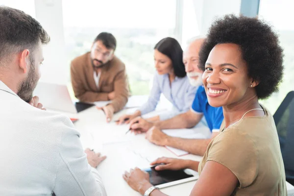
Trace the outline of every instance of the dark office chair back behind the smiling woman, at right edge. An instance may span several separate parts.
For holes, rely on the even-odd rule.
[[[279,136],[286,180],[294,185],[294,91],[287,94],[273,119]]]

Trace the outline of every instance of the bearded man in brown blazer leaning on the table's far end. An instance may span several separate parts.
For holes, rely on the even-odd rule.
[[[116,39],[102,32],[94,40],[91,51],[71,63],[74,96],[80,101],[106,101],[103,107],[109,122],[115,112],[123,109],[129,96],[125,65],[114,55]]]

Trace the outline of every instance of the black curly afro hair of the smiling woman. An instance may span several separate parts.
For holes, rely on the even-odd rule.
[[[199,51],[199,68],[205,70],[210,51],[218,44],[239,45],[246,62],[248,76],[259,84],[255,87],[258,98],[268,98],[278,91],[283,77],[283,49],[271,26],[257,18],[226,15],[210,27]]]

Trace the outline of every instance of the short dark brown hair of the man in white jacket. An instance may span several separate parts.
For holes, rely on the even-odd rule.
[[[33,53],[40,41],[48,44],[50,37],[38,21],[21,10],[0,6],[0,61],[24,49]]]

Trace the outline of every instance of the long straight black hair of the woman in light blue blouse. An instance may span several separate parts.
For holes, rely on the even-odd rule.
[[[183,49],[180,44],[171,37],[160,40],[154,47],[172,60],[174,74],[178,77],[185,77],[185,65],[183,63]]]

